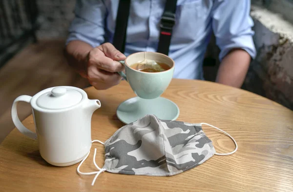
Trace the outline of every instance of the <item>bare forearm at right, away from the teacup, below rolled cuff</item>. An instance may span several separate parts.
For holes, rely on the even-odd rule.
[[[251,56],[242,49],[232,50],[219,67],[216,82],[240,88],[246,77]]]

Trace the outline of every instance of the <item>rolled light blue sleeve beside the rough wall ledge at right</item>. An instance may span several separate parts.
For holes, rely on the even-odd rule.
[[[212,9],[212,28],[222,59],[233,48],[241,48],[255,58],[256,50],[251,27],[250,0],[215,0]]]

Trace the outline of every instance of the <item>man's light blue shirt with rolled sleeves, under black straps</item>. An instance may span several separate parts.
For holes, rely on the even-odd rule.
[[[125,55],[157,51],[160,19],[166,0],[131,0]],[[119,0],[77,0],[67,42],[82,40],[93,47],[112,42]],[[174,78],[203,79],[203,59],[212,31],[221,52],[256,51],[251,30],[250,0],[178,0],[169,57]]]

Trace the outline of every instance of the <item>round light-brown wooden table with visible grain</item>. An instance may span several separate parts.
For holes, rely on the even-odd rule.
[[[105,141],[121,123],[118,105],[135,96],[122,82],[106,91],[86,89],[102,107],[92,116],[92,139]],[[293,111],[244,90],[199,80],[173,79],[163,94],[180,108],[178,120],[207,122],[227,131],[239,149],[229,156],[212,156],[202,165],[174,176],[101,173],[80,176],[78,164],[54,167],[39,154],[38,143],[14,129],[0,145],[0,191],[293,191]],[[23,124],[34,130],[33,117]],[[230,152],[234,144],[213,128],[203,128],[217,152]],[[94,143],[81,169],[95,171],[104,164],[104,148]]]

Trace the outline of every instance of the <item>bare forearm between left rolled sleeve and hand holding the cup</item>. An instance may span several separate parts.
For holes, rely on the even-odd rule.
[[[84,41],[70,41],[65,48],[65,57],[68,64],[82,77],[86,77],[87,55],[93,47]]]

